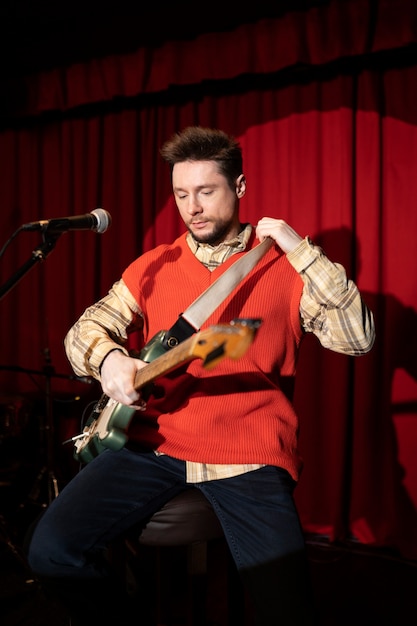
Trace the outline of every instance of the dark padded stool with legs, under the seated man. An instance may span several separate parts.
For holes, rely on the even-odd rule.
[[[226,559],[226,599],[227,625],[243,626],[245,596],[236,566],[226,545],[223,530],[214,510],[207,498],[197,488],[192,488],[167,502],[157,511],[139,533],[129,533],[125,539],[125,565],[127,572],[133,575],[133,585],[144,577],[144,564],[152,578],[156,579],[157,595],[155,602],[155,618],[159,625],[177,624],[171,621],[173,610],[173,578],[166,575],[167,564],[182,551],[186,564],[185,609],[187,626],[208,626],[207,602],[210,567],[210,547],[222,546]],[[185,550],[185,554],[184,554]],[[216,552],[214,551],[214,554]],[[153,560],[153,564],[152,563]],[[164,564],[165,560],[165,564]],[[139,573],[140,572],[140,573]],[[179,572],[175,581],[178,583]],[[180,580],[184,589],[184,584]],[[138,595],[140,596],[140,590]],[[151,592],[149,592],[151,593]],[[174,591],[175,596],[175,591]],[[218,600],[218,598],[217,598]],[[184,608],[184,606],[182,606]]]

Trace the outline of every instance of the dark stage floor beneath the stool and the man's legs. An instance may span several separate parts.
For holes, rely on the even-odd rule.
[[[68,626],[59,608],[45,599],[32,579],[23,549],[8,525],[1,518],[0,624]],[[309,537],[307,545],[320,626],[415,626],[417,563],[355,544],[331,546],[319,537]],[[225,566],[220,550],[223,550],[220,546],[214,548],[209,561],[207,626],[227,625],[223,593]],[[182,557],[177,553],[175,559],[179,558]],[[177,565],[175,577],[181,569]],[[185,609],[182,609],[180,603],[173,621],[169,624],[164,621],[164,626],[185,625]],[[242,626],[252,626],[250,617],[244,622]]]

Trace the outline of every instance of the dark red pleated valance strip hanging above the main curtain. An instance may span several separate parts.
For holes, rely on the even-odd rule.
[[[166,91],[247,74],[320,66],[417,41],[413,0],[333,0],[309,11],[245,24],[191,41],[168,41],[120,56],[93,59],[25,79],[11,115],[68,111],[115,98]],[[221,50],[221,54],[219,54]]]

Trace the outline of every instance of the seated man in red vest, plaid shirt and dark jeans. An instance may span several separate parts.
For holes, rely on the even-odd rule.
[[[52,502],[35,529],[29,562],[76,624],[142,624],[138,607],[132,621],[129,610],[124,615],[128,605],[117,600],[103,551],[173,496],[197,487],[220,519],[256,623],[310,625],[314,610],[293,501],[302,467],[292,404],[297,354],[307,332],[328,349],[364,354],[374,342],[373,316],[343,267],[308,237],[278,218],[264,217],[256,228],[240,223],[246,180],[233,137],[189,127],[161,154],[188,232],[133,261],[65,338],[77,375],[94,376],[107,396],[135,407],[129,440],[94,458]],[[129,334],[139,332],[146,345],[171,328],[268,237],[274,245],[204,324],[261,318],[247,353],[211,370],[192,361],[158,380],[158,393],[142,397],[134,381],[147,365],[129,355]]]

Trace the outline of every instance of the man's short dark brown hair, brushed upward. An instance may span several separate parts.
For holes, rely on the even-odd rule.
[[[243,173],[242,149],[239,142],[222,130],[189,126],[175,133],[161,150],[162,158],[171,167],[184,161],[216,161],[219,172],[234,189]]]

